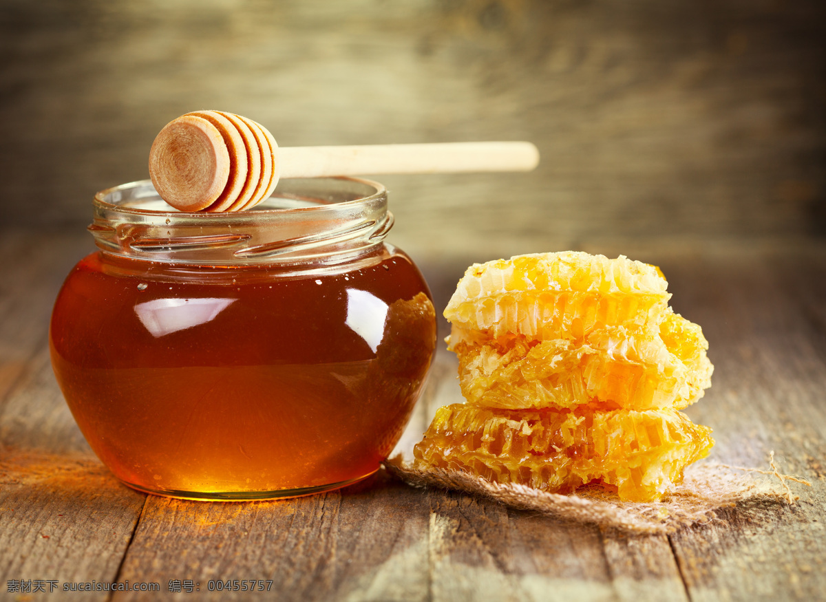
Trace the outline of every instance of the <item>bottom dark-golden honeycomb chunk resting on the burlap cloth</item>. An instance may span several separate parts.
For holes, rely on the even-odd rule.
[[[447,405],[415,457],[500,483],[555,493],[600,482],[622,500],[652,501],[705,456],[711,430],[676,410],[492,410]]]

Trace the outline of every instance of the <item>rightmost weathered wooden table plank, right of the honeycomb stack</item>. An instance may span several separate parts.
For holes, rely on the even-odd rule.
[[[774,450],[782,472],[812,482],[795,487],[795,506],[740,506],[673,535],[692,600],[814,600],[826,591],[826,329],[811,319],[826,303],[824,277],[824,255],[672,269],[673,301],[703,325],[716,366],[710,394],[691,409],[715,429],[714,457],[766,467]],[[817,284],[800,296],[789,282]]]

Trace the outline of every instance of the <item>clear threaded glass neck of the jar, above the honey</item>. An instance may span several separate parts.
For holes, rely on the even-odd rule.
[[[88,230],[103,251],[164,263],[339,263],[382,242],[393,224],[387,188],[363,178],[284,178],[246,211],[190,213],[150,180],[97,192]]]

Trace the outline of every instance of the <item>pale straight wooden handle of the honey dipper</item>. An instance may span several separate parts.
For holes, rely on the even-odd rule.
[[[539,150],[529,142],[295,146],[278,149],[282,178],[376,173],[530,171]]]

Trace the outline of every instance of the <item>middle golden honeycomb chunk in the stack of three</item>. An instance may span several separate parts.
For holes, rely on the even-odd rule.
[[[670,308],[664,316],[657,330],[607,326],[579,340],[490,339],[454,326],[462,394],[508,409],[680,410],[703,396],[713,367],[700,327]]]

